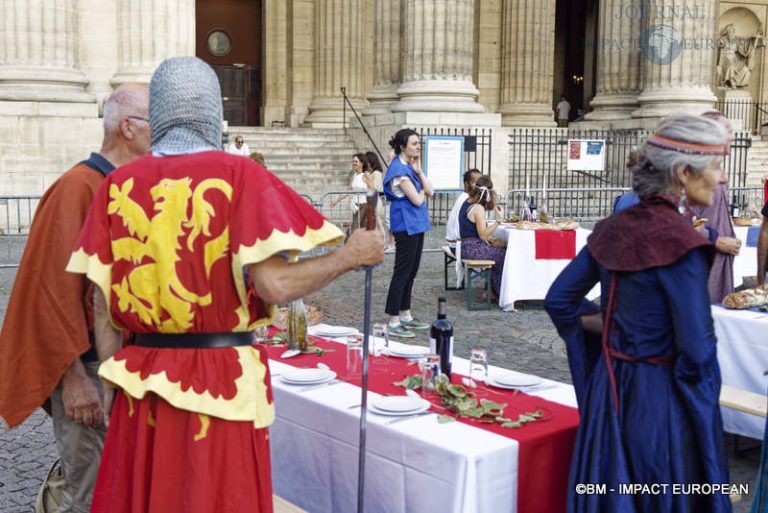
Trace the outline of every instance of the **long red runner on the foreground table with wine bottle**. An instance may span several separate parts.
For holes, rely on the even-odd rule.
[[[346,348],[344,344],[329,342],[312,337],[315,346],[334,351],[323,356],[300,355],[289,360],[280,360],[285,346],[267,346],[269,358],[297,367],[315,366],[323,362],[336,372],[340,379],[355,385],[361,384],[361,377],[346,376]],[[370,357],[368,388],[379,394],[404,394],[404,389],[393,385],[412,374],[418,374],[418,366],[406,359],[395,357]],[[451,382],[461,384],[462,376],[453,373]],[[516,419],[521,413],[542,409],[549,420],[525,424],[522,428],[502,428],[500,424],[486,424],[477,420],[458,417],[456,420],[477,428],[492,431],[501,436],[517,440],[520,444],[518,456],[517,510],[520,513],[562,513],[566,507],[568,472],[571,454],[579,425],[579,413],[575,408],[529,396],[516,390],[485,389],[472,390],[478,398],[506,403],[504,416]],[[429,398],[428,398],[429,399]],[[440,410],[439,396],[431,402],[433,411]],[[445,412],[440,412],[445,413]]]

